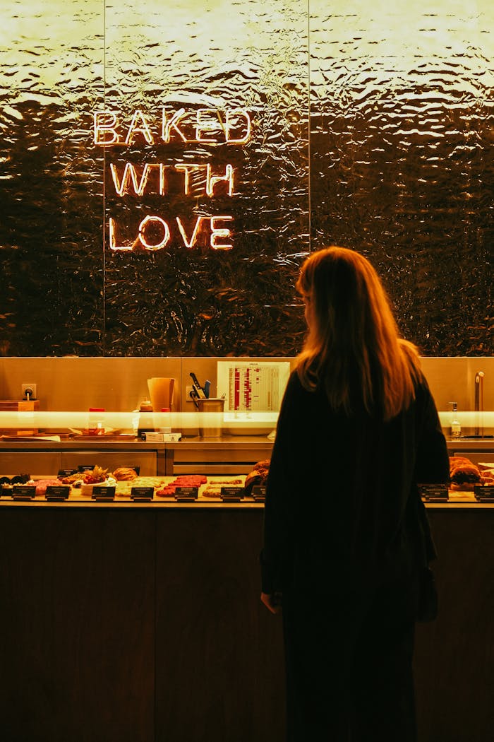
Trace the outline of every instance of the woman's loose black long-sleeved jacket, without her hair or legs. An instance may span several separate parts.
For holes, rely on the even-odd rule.
[[[435,557],[417,485],[448,482],[449,459],[424,378],[415,392],[384,423],[335,413],[290,375],[267,479],[264,592],[393,580]]]

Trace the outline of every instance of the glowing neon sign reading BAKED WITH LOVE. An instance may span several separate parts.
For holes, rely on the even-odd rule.
[[[112,111],[95,111],[93,114],[93,141],[98,147],[124,149],[139,142],[142,145],[246,145],[252,136],[250,114],[243,108],[220,111],[199,108],[197,111],[167,111],[162,107],[157,116],[134,111],[127,124]],[[170,180],[179,184],[184,196],[205,196],[213,200],[221,195],[231,198],[235,194],[236,168],[230,163],[213,168],[207,162],[133,162],[110,163],[111,183],[117,196],[143,198],[149,194],[166,196]],[[146,214],[138,225],[137,234],[130,242],[123,243],[115,217],[109,217],[109,245],[113,251],[144,249],[150,252],[165,249],[178,243],[187,249],[198,245],[200,233],[207,234],[213,250],[233,248],[229,214],[198,216],[186,225],[180,215],[167,217]]]

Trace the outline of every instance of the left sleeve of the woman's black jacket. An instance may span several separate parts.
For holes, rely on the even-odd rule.
[[[261,584],[267,594],[283,592],[290,584],[295,545],[296,476],[300,456],[297,440],[298,378],[290,376],[276,427],[267,477]]]

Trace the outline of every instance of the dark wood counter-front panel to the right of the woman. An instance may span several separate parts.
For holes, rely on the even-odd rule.
[[[418,624],[423,742],[490,742],[494,729],[494,510],[429,510],[439,615]]]

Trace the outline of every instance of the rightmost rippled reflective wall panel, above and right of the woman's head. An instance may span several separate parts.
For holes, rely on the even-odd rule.
[[[426,355],[492,354],[493,3],[310,13],[313,249],[370,257]]]

